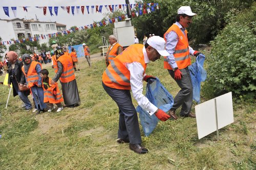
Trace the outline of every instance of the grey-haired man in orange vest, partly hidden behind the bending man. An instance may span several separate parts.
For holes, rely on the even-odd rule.
[[[122,53],[123,47],[117,42],[117,37],[115,35],[110,35],[109,36],[109,42],[110,42],[110,47],[108,52],[106,52],[106,66],[108,67],[111,60],[113,60],[117,55]]]

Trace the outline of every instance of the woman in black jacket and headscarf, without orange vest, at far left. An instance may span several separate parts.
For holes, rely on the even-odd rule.
[[[26,111],[29,111],[32,108],[32,105],[28,98],[30,91],[19,91],[18,89],[18,84],[25,83],[25,77],[22,72],[23,63],[18,60],[17,53],[13,51],[7,53],[6,59],[8,60],[8,86],[10,87],[10,85],[12,84],[13,96],[18,95],[25,104]]]

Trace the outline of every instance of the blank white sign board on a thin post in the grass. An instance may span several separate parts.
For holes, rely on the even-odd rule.
[[[195,107],[198,138],[234,122],[232,93],[226,93]]]

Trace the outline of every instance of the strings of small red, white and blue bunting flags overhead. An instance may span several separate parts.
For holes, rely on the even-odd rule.
[[[132,8],[132,5],[134,8]],[[89,8],[90,6],[86,6],[87,7],[87,11],[88,11],[88,14],[89,14]],[[96,10],[95,12],[99,12],[101,13],[102,11],[102,7],[103,6],[96,6]],[[123,5],[123,6],[120,6],[120,5],[105,5],[104,6],[108,11],[115,11],[115,10],[126,10],[126,4]],[[123,7],[123,9],[121,8]],[[3,7],[4,8],[4,7]],[[13,10],[13,13],[14,11],[16,12],[16,7],[11,7],[12,10]],[[23,7],[25,11],[27,11],[27,7]],[[47,7],[36,7],[36,8],[39,8],[39,9],[43,9],[44,11],[44,14],[46,15],[46,11],[47,11]],[[67,12],[69,13],[70,12],[70,6],[67,6],[67,7],[63,7],[61,6],[61,8],[63,10],[67,10]],[[71,10],[72,10],[72,14],[74,15],[74,8],[75,6],[72,6],[71,7]],[[79,8],[80,6],[76,6],[77,8],[77,11],[79,11]],[[158,3],[148,3],[148,4],[131,4],[131,8],[132,8],[132,17],[138,17],[140,15],[145,15],[145,14],[149,14],[149,13],[152,13],[154,11],[156,11],[157,9],[159,9],[159,6],[158,6]],[[9,15],[9,7],[7,7],[6,9],[8,10],[5,10],[5,11],[8,11],[8,15]],[[52,13],[52,7],[48,7],[49,11],[50,11],[50,14],[51,16],[53,16],[53,13]],[[94,7],[93,7],[94,9]],[[54,12],[55,12],[55,15],[57,16],[58,15],[58,7],[54,7]],[[82,14],[84,13],[84,6],[81,6],[81,12]],[[92,11],[93,12],[93,11]],[[78,14],[79,12],[77,12]],[[7,15],[7,14],[6,14]],[[94,22],[90,25],[87,25],[87,26],[82,26],[82,27],[77,27],[76,29],[70,29],[70,30],[64,30],[64,31],[61,31],[61,32],[57,32],[57,33],[53,33],[53,34],[46,34],[46,35],[38,35],[34,38],[23,38],[23,39],[17,39],[17,40],[9,40],[9,41],[0,41],[0,44],[3,44],[3,45],[6,45],[6,44],[15,44],[15,43],[24,43],[26,41],[38,41],[40,39],[47,39],[47,38],[51,38],[51,37],[57,37],[59,35],[68,35],[72,32],[76,32],[76,31],[79,31],[79,30],[87,30],[87,29],[93,29],[93,28],[96,28],[96,27],[104,27],[104,26],[107,26],[111,23],[114,23],[114,22],[118,22],[118,21],[123,21],[125,18],[127,18],[127,14],[122,14],[121,16],[118,16],[118,17],[115,17],[115,18],[109,18],[109,19],[106,19],[106,20],[101,20],[99,22]]]

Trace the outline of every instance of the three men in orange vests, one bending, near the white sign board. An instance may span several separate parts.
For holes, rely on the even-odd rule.
[[[193,13],[189,6],[178,9],[176,22],[165,32],[164,37],[152,36],[143,44],[135,43],[121,52],[122,46],[113,35],[109,37],[111,46],[106,54],[107,68],[102,75],[102,86],[119,108],[118,143],[130,143],[130,149],[139,154],[148,150],[141,145],[141,135],[136,109],[132,103],[131,92],[138,105],[160,119],[178,119],[176,109],[181,106],[181,117],[193,117],[193,86],[188,66],[189,55],[198,56],[200,52],[188,45],[186,28],[192,22]],[[153,105],[143,94],[143,80],[156,79],[145,74],[147,63],[164,56],[164,68],[176,81],[181,90],[174,98],[174,105],[165,113]]]

